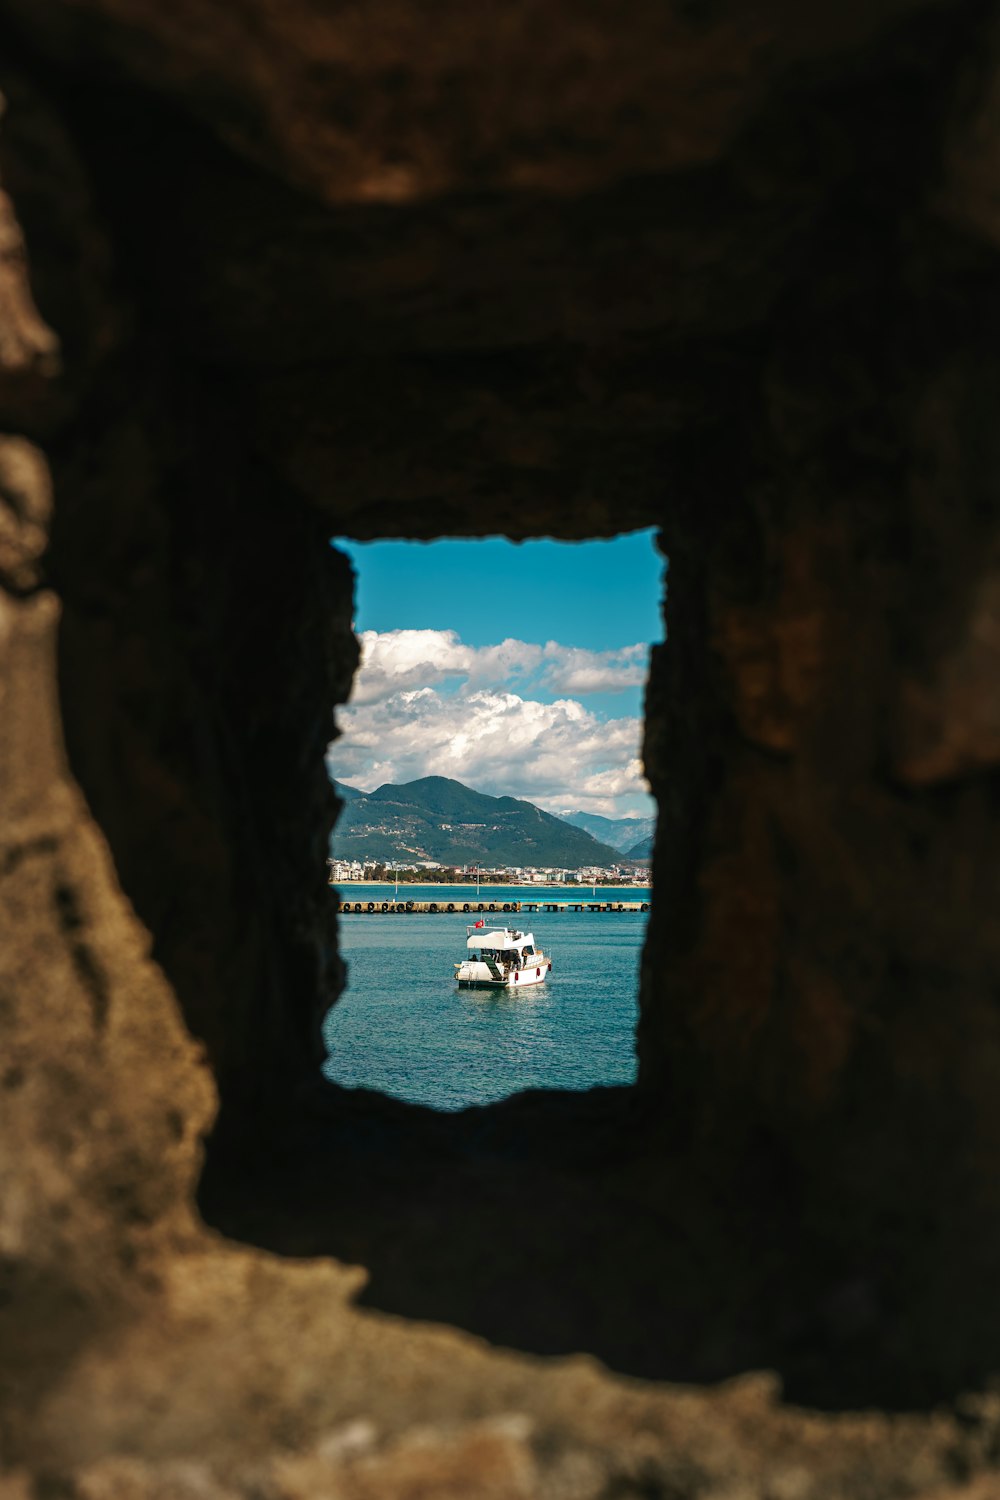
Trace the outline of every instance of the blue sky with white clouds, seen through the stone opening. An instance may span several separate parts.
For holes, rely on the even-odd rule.
[[[607,542],[345,542],[363,664],[331,774],[454,776],[552,812],[648,814],[637,764],[661,639],[654,532]]]

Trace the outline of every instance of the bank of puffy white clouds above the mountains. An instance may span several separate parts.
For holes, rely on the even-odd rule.
[[[342,738],[330,747],[330,771],[364,790],[450,776],[541,807],[645,812],[642,720],[609,720],[570,696],[642,682],[645,650],[514,639],[466,646],[451,630],[366,632],[351,702],[337,711]],[[541,702],[532,681],[565,696]]]

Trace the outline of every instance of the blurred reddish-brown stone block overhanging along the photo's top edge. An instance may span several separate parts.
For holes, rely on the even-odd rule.
[[[63,60],[205,117],[223,138],[348,202],[498,188],[580,190],[720,154],[781,70],[864,45],[913,0],[805,16],[601,0],[502,15],[318,0],[6,0]]]

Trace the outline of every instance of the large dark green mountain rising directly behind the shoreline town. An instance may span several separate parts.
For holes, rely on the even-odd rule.
[[[336,783],[345,807],[330,842],[339,860],[439,864],[618,864],[622,855],[583,828],[514,796],[487,796],[444,776],[358,792]]]

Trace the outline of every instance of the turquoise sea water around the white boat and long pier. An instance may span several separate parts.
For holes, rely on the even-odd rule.
[[[343,898],[393,898],[391,886],[343,886]],[[402,886],[400,898],[468,900],[454,886]],[[336,894],[330,892],[331,900]],[[483,888],[486,900],[579,900],[585,891]],[[481,897],[481,898],[483,898]],[[646,902],[634,886],[598,900]],[[463,912],[339,918],[348,987],[324,1023],[324,1071],[348,1088],[457,1110],[522,1089],[589,1089],[636,1077],[636,994],[648,912],[520,912],[553,960],[546,984],[519,994],[459,990]],[[504,915],[499,914],[499,921]]]

